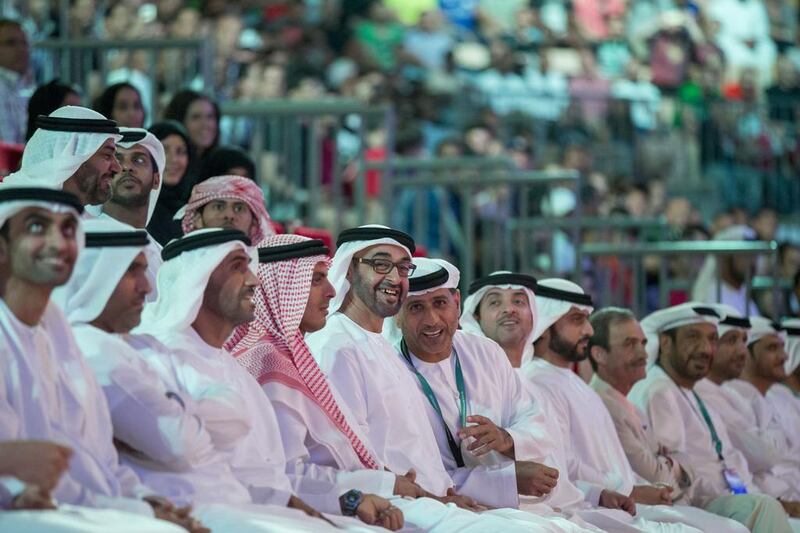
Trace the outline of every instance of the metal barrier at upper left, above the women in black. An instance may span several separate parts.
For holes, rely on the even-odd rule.
[[[33,50],[40,81],[60,78],[84,90],[103,88],[109,79],[129,81],[142,90],[150,117],[160,116],[161,94],[190,84],[213,89],[210,39],[53,39],[33,43]]]

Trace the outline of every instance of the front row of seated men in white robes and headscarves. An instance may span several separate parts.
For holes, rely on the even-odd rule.
[[[56,118],[0,186],[3,531],[800,530],[797,324],[510,272],[462,305],[375,225],[155,254],[84,213],[142,189],[87,168],[122,135]]]

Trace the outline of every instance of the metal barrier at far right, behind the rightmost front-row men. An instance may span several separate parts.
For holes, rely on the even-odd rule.
[[[638,243],[638,244],[608,244],[608,243],[593,243],[584,244],[580,246],[580,253],[584,257],[612,257],[622,259],[621,264],[625,262],[632,263],[631,270],[633,275],[632,291],[626,298],[622,292],[622,285],[616,284],[612,287],[610,277],[612,272],[600,272],[601,282],[599,287],[595,289],[595,301],[600,306],[607,305],[625,305],[630,307],[638,316],[645,314],[648,311],[646,301],[646,279],[645,279],[645,257],[655,257],[658,259],[658,308],[668,307],[669,291],[673,287],[669,276],[669,265],[666,261],[670,257],[682,256],[730,256],[736,254],[738,256],[758,256],[768,255],[772,261],[772,271],[777,271],[778,261],[778,246],[774,241],[674,241],[674,242],[655,242],[655,243]],[[625,261],[625,260],[628,261]],[[719,279],[719,269],[717,270],[716,279]],[[752,295],[752,279],[748,274],[745,280],[747,286],[747,302],[751,301]],[[687,286],[682,284],[682,286]],[[615,290],[616,289],[616,290]],[[778,291],[780,287],[777,280],[772,279],[771,290],[773,292],[774,301],[778,301]],[[722,284],[717,284],[717,301],[720,300]],[[612,294],[612,292],[614,294]]]

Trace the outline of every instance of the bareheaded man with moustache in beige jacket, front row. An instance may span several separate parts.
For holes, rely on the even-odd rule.
[[[594,370],[589,386],[600,396],[617,429],[620,443],[634,472],[650,483],[671,487],[673,501],[686,501],[692,481],[680,455],[658,446],[644,415],[628,401],[633,385],[644,379],[647,338],[628,309],[606,307],[589,317],[594,334],[589,339],[589,362]]]

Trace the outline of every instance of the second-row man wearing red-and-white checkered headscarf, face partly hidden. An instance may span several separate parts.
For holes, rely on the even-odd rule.
[[[198,183],[175,218],[181,220],[184,234],[200,228],[238,229],[254,243],[275,234],[264,193],[242,176],[216,176]]]

